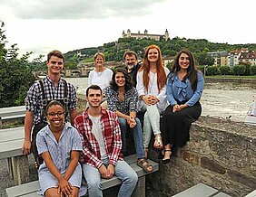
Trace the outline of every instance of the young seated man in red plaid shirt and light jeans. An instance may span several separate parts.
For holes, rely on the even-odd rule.
[[[74,119],[82,137],[83,172],[88,183],[89,197],[103,196],[101,177],[113,174],[122,181],[118,196],[131,196],[138,181],[133,168],[121,154],[121,129],[116,114],[101,107],[102,89],[92,85],[86,89],[89,107]]]

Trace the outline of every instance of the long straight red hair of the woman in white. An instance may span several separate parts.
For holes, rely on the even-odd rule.
[[[139,71],[143,70],[143,85],[145,89],[147,89],[148,91],[149,81],[150,81],[150,78],[149,78],[150,62],[148,60],[148,53],[151,49],[156,49],[159,54],[158,60],[156,61],[156,71],[157,71],[157,87],[158,87],[158,91],[160,92],[160,90],[165,86],[166,74],[162,64],[162,54],[161,54],[160,48],[157,45],[153,44],[146,48],[145,54],[143,57],[143,65]]]

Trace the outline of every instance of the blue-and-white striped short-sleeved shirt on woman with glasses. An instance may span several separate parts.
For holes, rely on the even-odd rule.
[[[81,137],[70,123],[65,123],[59,142],[56,141],[49,126],[41,129],[36,136],[36,146],[39,155],[49,152],[54,165],[61,174],[64,174],[70,164],[71,151],[82,151]],[[45,163],[40,165],[39,174],[43,171],[48,171]]]

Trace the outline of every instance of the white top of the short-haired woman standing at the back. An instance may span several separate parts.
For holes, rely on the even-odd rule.
[[[112,80],[113,71],[110,69],[103,70],[103,72],[97,72],[92,70],[88,76],[88,86],[98,85],[101,89],[105,89],[110,85]]]

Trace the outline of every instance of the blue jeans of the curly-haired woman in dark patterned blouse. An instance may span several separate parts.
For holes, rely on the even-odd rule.
[[[127,131],[127,120],[123,117],[118,117],[119,124],[121,127],[121,134],[122,134],[122,143],[123,143],[123,149],[125,151],[126,147],[126,131]],[[142,159],[145,157],[145,151],[144,151],[144,146],[143,146],[143,129],[142,129],[142,124],[141,121],[138,117],[135,117],[136,121],[136,126],[132,128],[133,130],[133,140],[134,140],[134,145],[136,149],[136,155],[138,159]]]

